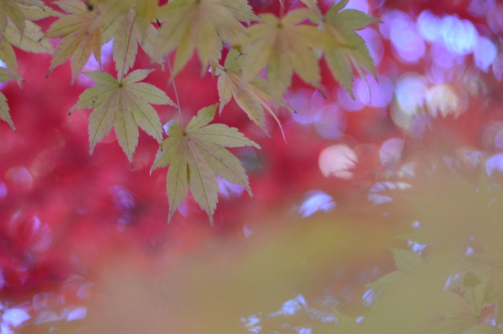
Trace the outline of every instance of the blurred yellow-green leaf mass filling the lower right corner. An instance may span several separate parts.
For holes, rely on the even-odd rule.
[[[426,254],[393,249],[398,270],[367,286],[376,298],[360,323],[337,312],[339,332],[503,333],[503,191],[485,173],[477,186],[436,182],[408,198],[421,225],[401,236]]]

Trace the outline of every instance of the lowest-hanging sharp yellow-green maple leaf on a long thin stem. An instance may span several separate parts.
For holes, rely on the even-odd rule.
[[[167,131],[169,137],[164,139],[157,151],[150,173],[170,165],[166,175],[170,203],[168,222],[190,188],[192,196],[206,211],[213,225],[213,212],[218,202],[216,175],[242,186],[253,196],[243,166],[225,147],[254,146],[260,149],[260,146],[236,128],[224,124],[208,125],[215,117],[217,104],[199,110],[185,129],[172,121]]]

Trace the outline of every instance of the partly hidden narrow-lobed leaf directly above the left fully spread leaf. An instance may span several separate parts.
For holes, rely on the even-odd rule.
[[[138,43],[149,55],[154,54],[154,38],[157,30],[149,25],[144,31],[140,28],[137,16],[129,10],[118,20],[113,44],[113,58],[117,77],[122,78],[133,67],[138,53]]]

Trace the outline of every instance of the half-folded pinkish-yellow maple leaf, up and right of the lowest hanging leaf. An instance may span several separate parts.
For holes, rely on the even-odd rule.
[[[273,100],[269,93],[269,84],[265,79],[256,77],[241,88],[241,60],[242,57],[239,56],[239,52],[231,49],[225,58],[224,66],[216,67],[215,74],[219,75],[217,86],[218,95],[220,97],[220,112],[230,101],[231,97],[234,97],[236,103],[243,109],[246,115],[248,115],[249,119],[257,124],[269,136],[269,132],[266,128],[264,109],[274,117],[281,128],[280,121],[267,103]],[[282,103],[282,105],[290,108],[285,103]]]

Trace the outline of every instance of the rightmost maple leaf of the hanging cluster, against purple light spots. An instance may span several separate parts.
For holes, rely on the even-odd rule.
[[[337,3],[330,7],[325,15],[323,27],[331,36],[333,47],[325,49],[324,57],[333,77],[355,99],[352,83],[353,67],[364,80],[367,80],[365,68],[372,72],[377,80],[374,60],[364,39],[355,30],[363,29],[371,23],[382,23],[382,21],[353,9],[341,11],[348,2],[349,0],[343,0]]]

